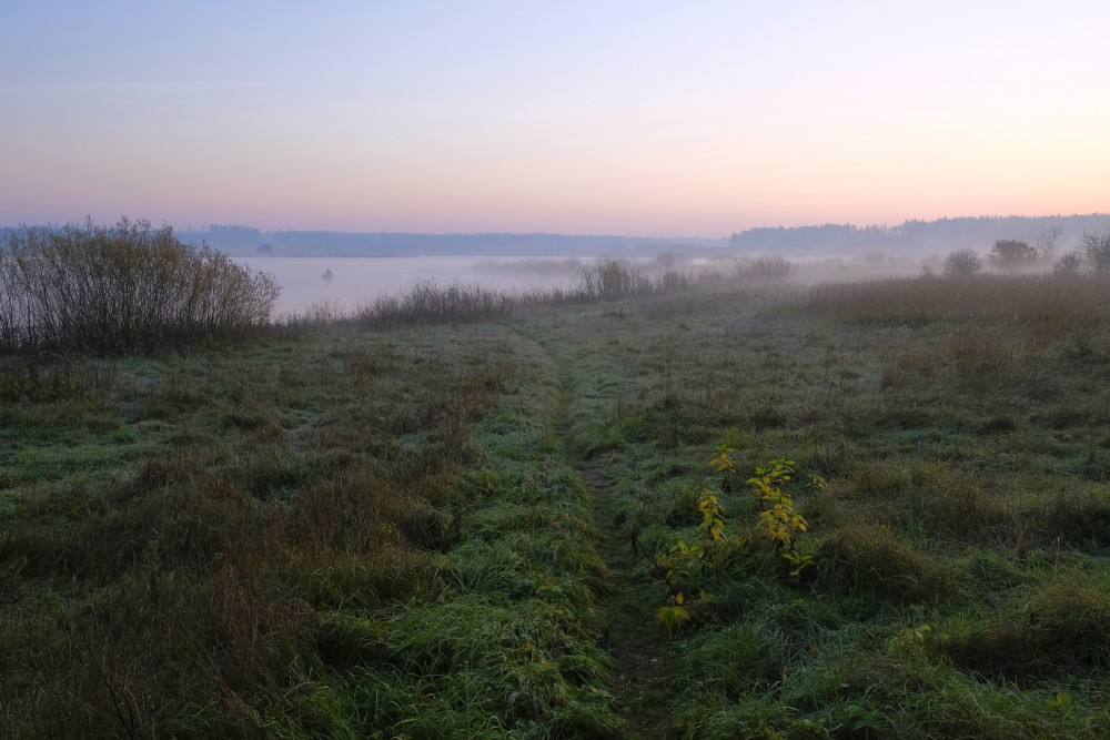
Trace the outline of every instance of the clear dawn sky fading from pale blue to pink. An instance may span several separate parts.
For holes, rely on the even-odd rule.
[[[0,0],[0,224],[1110,211],[1110,3]]]

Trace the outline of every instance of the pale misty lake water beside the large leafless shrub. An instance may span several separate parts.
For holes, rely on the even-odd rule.
[[[418,280],[523,290],[573,282],[581,260],[537,257],[235,257],[270,273],[281,285],[275,313],[304,311],[314,303],[354,306],[398,293]],[[331,280],[323,277],[330,271]]]

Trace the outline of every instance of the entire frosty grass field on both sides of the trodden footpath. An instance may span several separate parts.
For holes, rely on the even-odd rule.
[[[1107,737],[1108,288],[0,359],[0,733]],[[808,530],[776,546],[747,479],[783,458]]]

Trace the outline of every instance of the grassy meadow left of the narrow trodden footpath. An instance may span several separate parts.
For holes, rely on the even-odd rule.
[[[0,376],[4,737],[613,737],[561,384],[497,326]]]

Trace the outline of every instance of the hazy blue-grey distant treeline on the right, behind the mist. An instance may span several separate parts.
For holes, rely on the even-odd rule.
[[[1038,236],[1058,229],[1064,249],[1084,232],[1110,226],[1110,214],[1070,216],[976,216],[906,221],[895,226],[761,226],[733,234],[729,246],[744,254],[841,255],[868,252],[939,254],[953,249],[987,252],[1000,239],[1036,243]]]

